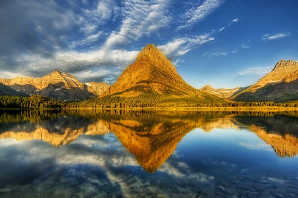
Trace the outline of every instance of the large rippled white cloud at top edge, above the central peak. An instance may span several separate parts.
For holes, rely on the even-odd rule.
[[[127,0],[123,9],[123,21],[118,32],[112,32],[105,46],[113,49],[149,35],[170,23],[167,10],[169,0]]]

